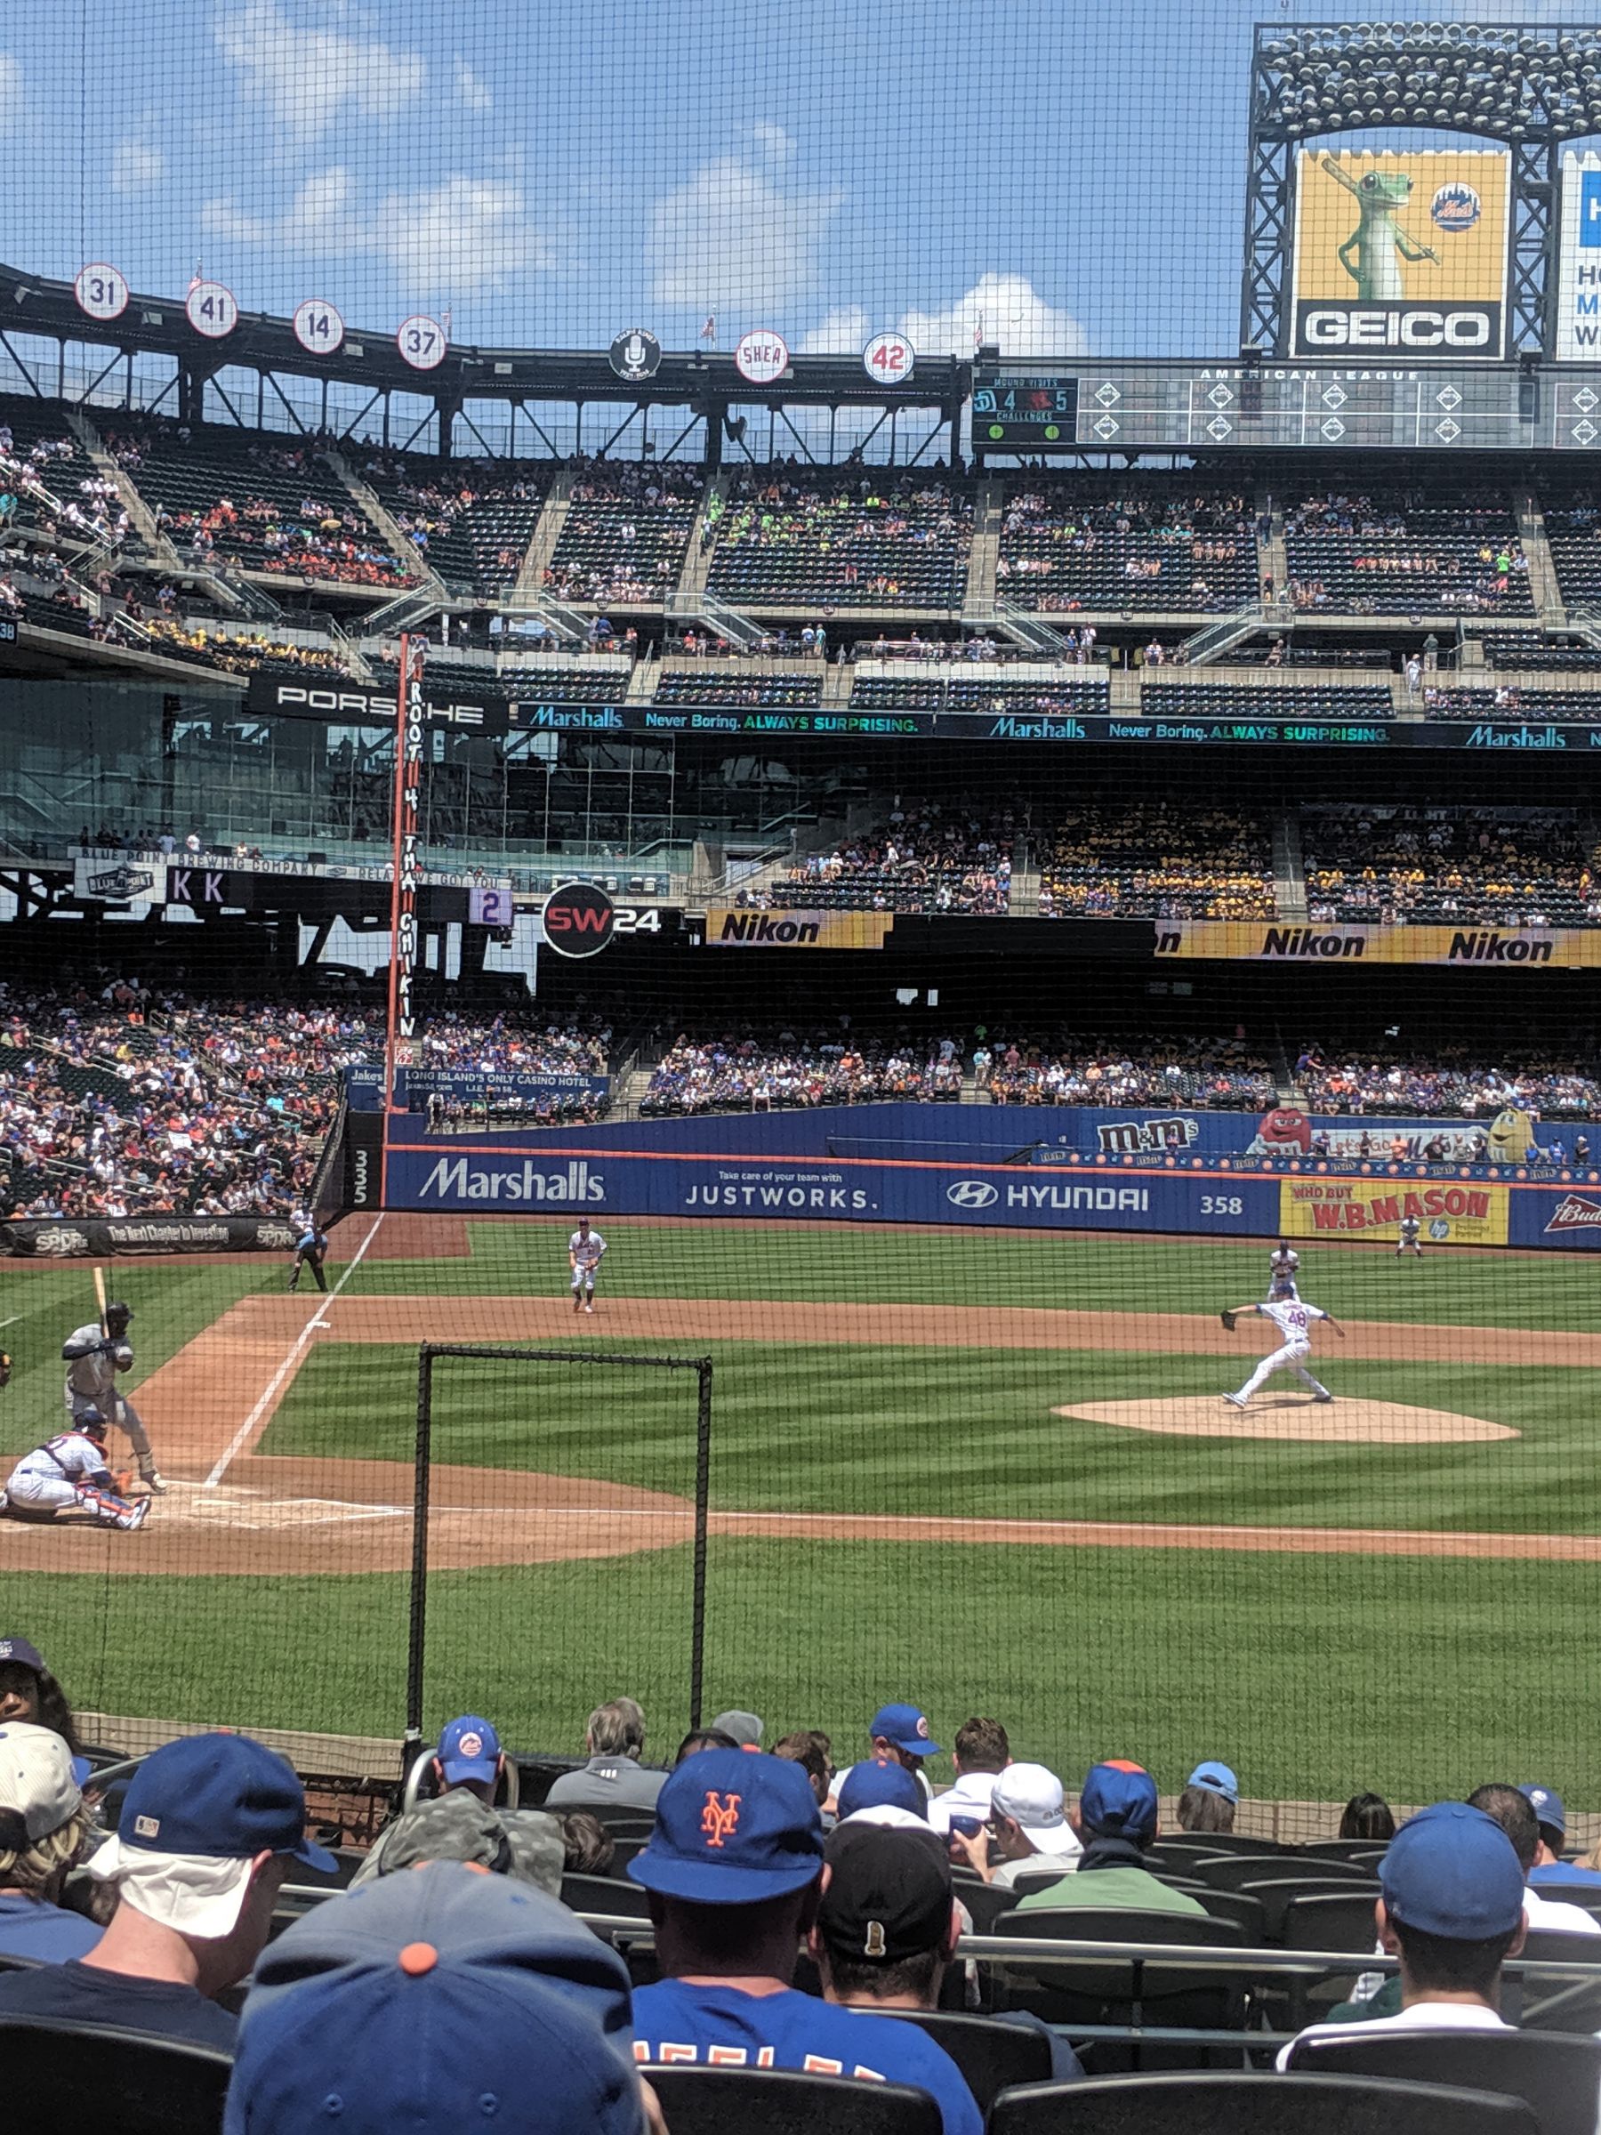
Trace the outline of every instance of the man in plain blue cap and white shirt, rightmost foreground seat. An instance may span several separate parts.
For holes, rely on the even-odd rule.
[[[1509,2030],[1501,1966],[1524,1947],[1524,1875],[1501,1825],[1467,1802],[1434,1802],[1400,1825],[1379,1862],[1379,1943],[1400,1958],[1400,2009],[1366,2024],[1309,2024],[1302,2041],[1385,2030]]]

